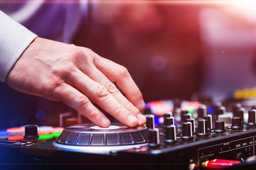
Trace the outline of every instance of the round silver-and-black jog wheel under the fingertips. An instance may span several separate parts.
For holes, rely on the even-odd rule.
[[[103,154],[147,145],[147,142],[149,130],[143,125],[128,128],[121,123],[112,123],[109,128],[100,128],[90,123],[65,128],[53,145],[60,149]]]

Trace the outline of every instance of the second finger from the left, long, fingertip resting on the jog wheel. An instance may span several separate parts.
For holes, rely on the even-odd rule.
[[[121,123],[129,127],[135,127],[138,125],[138,119],[129,112],[124,106],[122,106],[115,98],[110,94],[109,91],[102,86],[87,77],[79,69],[73,69],[72,72],[68,72],[68,81],[72,82],[76,89],[90,96],[90,100],[103,108],[107,113],[110,113],[117,118]]]

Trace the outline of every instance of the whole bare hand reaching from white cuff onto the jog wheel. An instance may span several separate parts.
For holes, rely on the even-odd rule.
[[[144,108],[142,94],[127,69],[85,47],[36,38],[6,83],[18,91],[63,101],[102,128],[110,126],[110,120],[92,103],[129,127],[146,122],[139,111]]]

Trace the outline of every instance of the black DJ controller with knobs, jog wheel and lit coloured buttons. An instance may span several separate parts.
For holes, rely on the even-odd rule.
[[[146,125],[0,131],[0,169],[253,169],[255,103],[147,103]]]

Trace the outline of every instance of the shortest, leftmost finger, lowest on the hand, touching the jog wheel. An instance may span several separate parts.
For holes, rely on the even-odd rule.
[[[85,117],[90,119],[92,123],[95,123],[102,128],[110,126],[110,120],[108,120],[85,95],[81,94],[72,86],[65,83],[60,84],[54,89],[53,94],[60,101],[63,101],[68,106],[75,108],[75,110],[82,115],[85,115]]]

